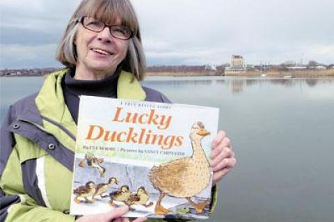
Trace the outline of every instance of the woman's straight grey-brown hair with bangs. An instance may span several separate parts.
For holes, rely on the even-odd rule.
[[[129,39],[127,56],[122,61],[122,70],[132,72],[136,79],[142,80],[145,75],[145,54],[138,19],[129,0],[82,0],[59,42],[56,59],[68,68],[75,68],[77,65],[74,41],[80,25],[79,18],[82,16],[96,17],[106,24],[113,24],[120,18],[122,25],[134,31],[134,37]]]

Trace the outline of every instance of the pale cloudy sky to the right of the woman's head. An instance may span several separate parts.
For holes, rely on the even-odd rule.
[[[333,44],[331,1],[133,3],[142,24],[149,64],[175,61],[172,56],[178,58],[179,64],[220,64],[227,62],[231,54],[243,54],[248,63],[334,60],[332,54],[308,50],[312,45],[331,48]]]

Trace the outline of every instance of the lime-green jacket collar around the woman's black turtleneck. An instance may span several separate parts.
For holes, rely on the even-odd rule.
[[[63,79],[67,70],[67,68],[58,70],[47,77],[40,93],[35,98],[35,104],[42,116],[58,122],[76,135],[77,125],[67,109],[63,89],[61,88],[61,79]],[[122,70],[120,77],[118,77],[117,97],[127,100],[145,100],[146,93],[132,73]],[[48,128],[47,125],[45,127]],[[54,132],[56,129],[51,127],[48,130]]]

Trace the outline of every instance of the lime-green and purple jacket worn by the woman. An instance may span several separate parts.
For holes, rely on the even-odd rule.
[[[74,221],[68,212],[77,125],[61,88],[66,72],[50,74],[39,93],[10,106],[0,134],[0,221]],[[121,72],[118,98],[169,102],[132,80]],[[211,210],[216,196],[214,187]]]

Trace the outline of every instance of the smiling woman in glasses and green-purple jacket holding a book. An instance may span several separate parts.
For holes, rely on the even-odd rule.
[[[50,74],[39,93],[10,106],[1,127],[0,221],[129,221],[121,218],[127,207],[79,218],[68,209],[79,96],[169,102],[138,82],[145,58],[131,3],[83,0],[56,58],[67,68]],[[230,140],[218,132],[212,142],[214,184],[235,163]]]

